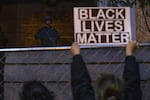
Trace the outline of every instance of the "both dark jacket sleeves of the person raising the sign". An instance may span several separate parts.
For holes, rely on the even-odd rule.
[[[126,57],[123,79],[125,80],[123,100],[141,100],[139,66],[134,56]],[[81,55],[73,57],[71,88],[74,100],[96,100],[91,78]]]

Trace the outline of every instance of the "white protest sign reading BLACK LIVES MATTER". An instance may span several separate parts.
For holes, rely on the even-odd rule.
[[[132,39],[129,7],[75,7],[74,39],[80,45],[113,46]]]

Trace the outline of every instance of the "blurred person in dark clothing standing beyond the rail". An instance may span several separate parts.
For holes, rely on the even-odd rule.
[[[41,46],[57,46],[59,33],[51,24],[52,19],[47,16],[44,20],[44,26],[35,34],[35,39],[41,41]]]

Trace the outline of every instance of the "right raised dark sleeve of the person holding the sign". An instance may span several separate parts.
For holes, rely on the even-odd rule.
[[[125,85],[124,100],[141,100],[140,71],[134,56],[127,56],[123,72]]]

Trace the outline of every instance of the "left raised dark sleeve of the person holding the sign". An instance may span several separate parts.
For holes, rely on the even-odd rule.
[[[71,88],[74,100],[95,100],[91,78],[80,55],[74,56],[71,64]]]

